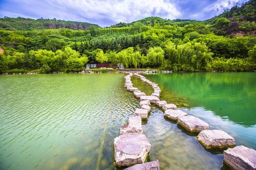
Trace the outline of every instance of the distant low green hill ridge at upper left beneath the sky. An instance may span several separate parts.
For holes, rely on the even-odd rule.
[[[43,30],[43,29],[71,29],[71,30],[89,30],[90,26],[100,28],[100,26],[78,21],[65,21],[53,19],[30,19],[30,18],[0,18],[0,29],[2,30],[17,30],[17,31],[29,31],[29,30]]]

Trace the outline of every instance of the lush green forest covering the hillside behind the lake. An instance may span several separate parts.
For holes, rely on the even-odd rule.
[[[79,71],[86,63],[252,71],[256,69],[255,9],[251,0],[206,21],[149,17],[108,28],[77,26],[83,22],[69,23],[76,26],[70,28],[66,21],[59,21],[63,27],[58,27],[54,19],[1,18],[0,72]],[[45,29],[48,22],[54,23],[53,29]]]

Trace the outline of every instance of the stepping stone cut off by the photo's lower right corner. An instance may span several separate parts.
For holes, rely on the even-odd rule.
[[[224,163],[233,169],[255,170],[256,151],[243,145],[224,151]]]

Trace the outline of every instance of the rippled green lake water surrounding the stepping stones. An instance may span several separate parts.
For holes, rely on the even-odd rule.
[[[113,139],[139,100],[126,91],[124,74],[0,76],[0,169],[116,169]],[[174,103],[222,129],[237,145],[256,149],[256,74],[146,75]],[[138,78],[134,86],[150,94]],[[150,159],[161,169],[228,169],[223,154],[208,152],[151,105],[143,125]]]

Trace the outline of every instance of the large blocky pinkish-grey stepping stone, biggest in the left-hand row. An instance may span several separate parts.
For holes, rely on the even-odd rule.
[[[114,159],[117,166],[144,163],[151,144],[143,134],[120,135],[114,138]]]

